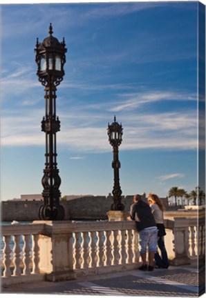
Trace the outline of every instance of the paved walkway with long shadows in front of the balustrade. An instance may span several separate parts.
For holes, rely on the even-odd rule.
[[[1,288],[3,293],[53,295],[109,295],[146,297],[198,297],[198,274],[194,266],[170,266],[152,272],[140,270],[79,277],[73,281],[18,284]],[[199,275],[203,291],[205,272]]]

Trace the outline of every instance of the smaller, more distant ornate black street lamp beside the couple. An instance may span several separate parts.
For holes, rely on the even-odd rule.
[[[109,135],[109,143],[113,146],[113,162],[111,164],[114,171],[114,186],[113,186],[113,204],[111,205],[111,210],[124,210],[124,205],[121,203],[122,200],[122,190],[120,188],[120,175],[119,168],[121,167],[118,148],[122,143],[122,124],[116,122],[116,117],[114,117],[114,122],[111,125],[108,123],[107,133]]]

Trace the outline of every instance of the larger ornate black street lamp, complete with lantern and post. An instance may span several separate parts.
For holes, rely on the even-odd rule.
[[[37,76],[45,87],[45,117],[41,121],[41,130],[46,134],[46,163],[44,176],[41,179],[44,190],[44,205],[39,209],[39,219],[62,220],[64,208],[59,205],[61,179],[57,169],[56,133],[60,130],[60,121],[56,116],[56,90],[64,77],[64,63],[66,62],[66,48],[64,39],[60,43],[53,37],[53,27],[50,23],[49,36],[37,44],[35,48],[37,62]]]

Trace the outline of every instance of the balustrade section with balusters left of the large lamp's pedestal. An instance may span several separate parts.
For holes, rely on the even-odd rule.
[[[3,226],[1,228],[4,242],[3,285],[44,280],[44,275],[39,275],[38,245],[39,235],[43,231],[44,224]],[[20,242],[23,242],[21,247]]]

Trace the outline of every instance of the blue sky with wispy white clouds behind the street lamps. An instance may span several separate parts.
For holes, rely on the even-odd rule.
[[[198,2],[1,5],[1,200],[42,192],[37,37],[65,38],[57,87],[64,195],[113,190],[107,126],[122,123],[122,195],[197,186]]]

